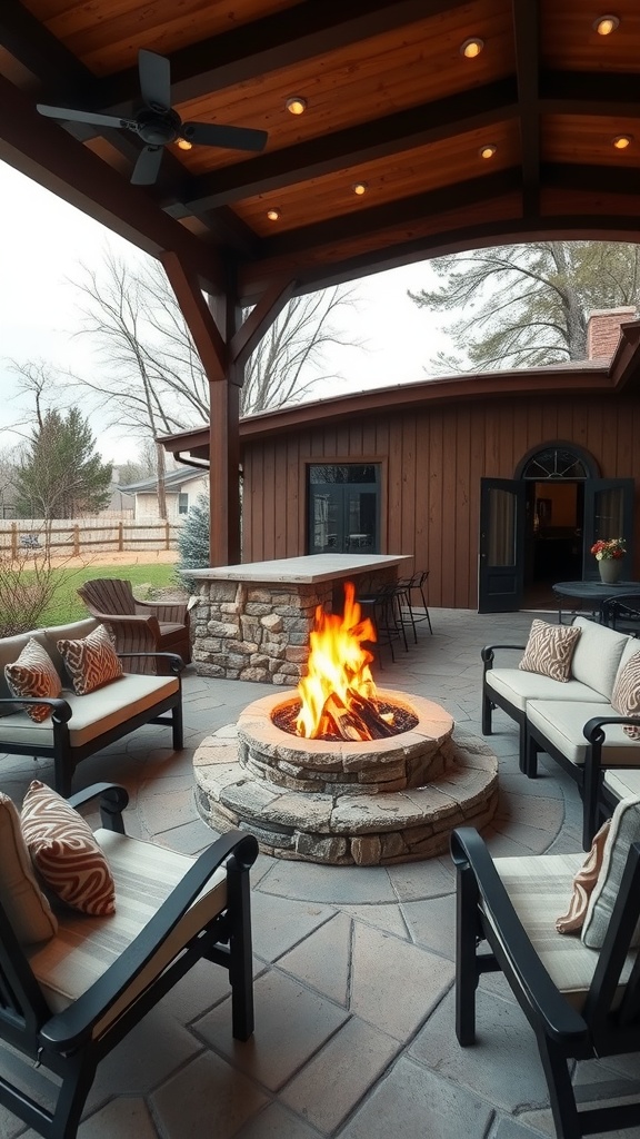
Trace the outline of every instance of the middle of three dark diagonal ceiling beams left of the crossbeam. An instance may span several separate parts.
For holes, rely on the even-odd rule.
[[[239,202],[343,170],[345,165],[391,157],[452,134],[503,122],[517,114],[516,84],[510,79],[501,80],[200,174],[190,182],[187,205],[190,210],[203,210]]]

